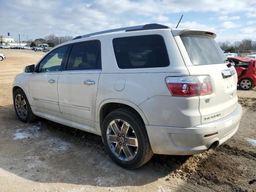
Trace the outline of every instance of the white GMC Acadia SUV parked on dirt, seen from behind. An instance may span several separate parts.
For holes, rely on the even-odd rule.
[[[16,114],[98,134],[126,168],[216,148],[238,130],[242,108],[215,37],[159,24],[78,36],[16,76]]]

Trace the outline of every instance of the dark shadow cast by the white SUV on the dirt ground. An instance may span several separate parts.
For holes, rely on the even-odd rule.
[[[142,186],[175,171],[189,156],[154,155],[127,170],[106,154],[100,136],[38,119],[21,122],[12,105],[0,106],[0,168],[37,182]]]

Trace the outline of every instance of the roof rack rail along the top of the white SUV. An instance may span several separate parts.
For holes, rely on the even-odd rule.
[[[141,30],[152,30],[152,29],[170,29],[170,27],[168,27],[166,25],[153,23],[153,24],[138,25],[138,26],[132,26],[132,27],[124,27],[124,28],[100,31],[100,32],[96,32],[96,33],[90,33],[90,34],[86,34],[86,35],[77,36],[76,38],[74,38],[72,40],[85,38],[85,37],[90,37],[90,36],[99,35],[99,34],[105,34],[105,33],[117,32],[117,31],[124,31],[124,30],[125,30],[125,32],[129,32],[129,31],[141,31]]]

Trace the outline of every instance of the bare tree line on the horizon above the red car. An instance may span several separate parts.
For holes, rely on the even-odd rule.
[[[235,41],[230,43],[229,41],[218,42],[220,48],[226,52],[239,53],[239,52],[252,52],[256,51],[256,41],[251,39],[243,39],[242,41]]]

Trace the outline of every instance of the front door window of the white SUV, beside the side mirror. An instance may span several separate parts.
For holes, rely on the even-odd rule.
[[[50,72],[50,71],[60,71],[60,65],[64,54],[67,50],[67,46],[58,48],[50,52],[39,65],[39,72]]]

